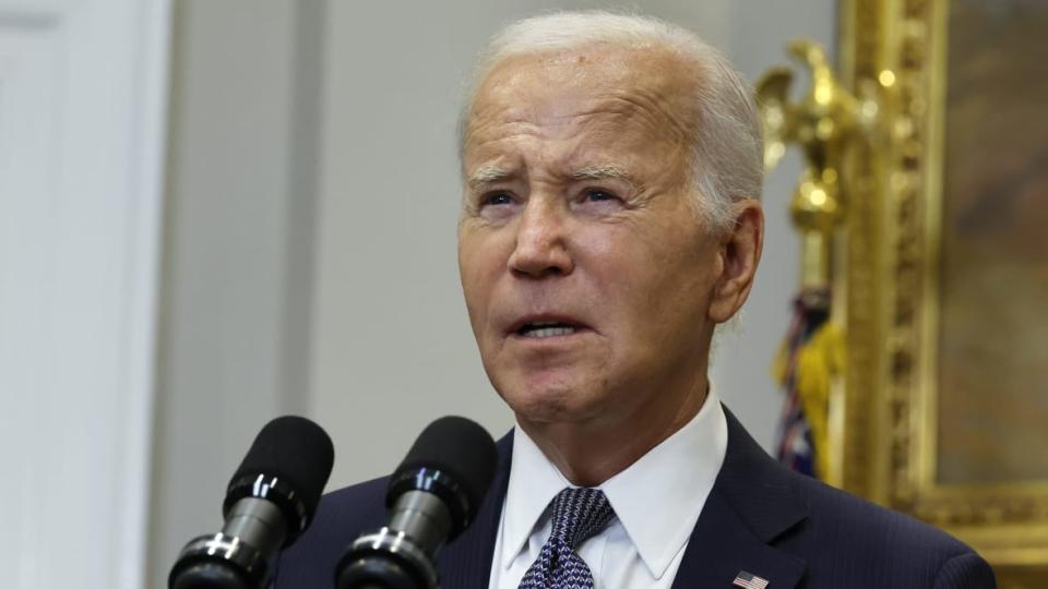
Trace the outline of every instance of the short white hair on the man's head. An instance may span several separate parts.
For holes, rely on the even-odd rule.
[[[683,27],[634,14],[605,11],[557,12],[514,22],[497,33],[474,70],[458,123],[460,156],[465,148],[469,110],[477,89],[502,60],[521,55],[577,49],[591,45],[664,47],[692,65],[696,125],[691,139],[691,178],[701,218],[715,230],[735,220],[733,203],[760,199],[764,140],[753,94],[719,51]]]

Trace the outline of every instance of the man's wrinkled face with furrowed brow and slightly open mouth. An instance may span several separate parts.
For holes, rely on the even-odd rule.
[[[643,421],[705,390],[724,244],[689,202],[683,68],[659,50],[522,56],[476,95],[458,265],[485,370],[523,421]]]

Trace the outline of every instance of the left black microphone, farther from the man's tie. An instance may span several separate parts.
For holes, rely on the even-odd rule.
[[[260,589],[270,561],[312,521],[335,449],[312,421],[286,416],[265,424],[240,462],[223,503],[225,526],[182,549],[169,589]]]

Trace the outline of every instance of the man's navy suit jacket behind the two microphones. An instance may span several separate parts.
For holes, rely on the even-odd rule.
[[[742,570],[767,589],[986,589],[993,573],[950,536],[902,514],[791,472],[725,410],[728,448],[699,516],[674,589],[730,588]],[[509,484],[513,438],[473,526],[438,556],[443,589],[488,586]],[[282,556],[277,589],[331,589],[334,567],[361,532],[386,520],[385,479],[323,497],[312,527]],[[652,501],[658,501],[656,495]]]

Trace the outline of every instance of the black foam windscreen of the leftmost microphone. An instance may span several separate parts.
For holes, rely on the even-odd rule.
[[[320,425],[306,418],[279,417],[259,432],[229,481],[229,492],[233,494],[235,485],[260,474],[278,478],[301,502],[309,521],[317,512],[334,461],[335,448]],[[239,497],[227,496],[226,508],[234,498]]]

